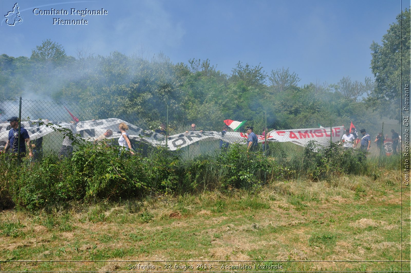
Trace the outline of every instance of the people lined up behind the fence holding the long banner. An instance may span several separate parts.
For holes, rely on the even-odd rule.
[[[25,157],[26,155],[26,146],[29,151],[29,157],[34,161],[37,160],[41,157],[42,152],[43,152],[43,137],[38,137],[36,139],[33,139],[30,141],[30,136],[23,127],[20,128],[20,132],[18,131],[19,127],[19,120],[16,116],[9,118],[7,121],[10,122],[10,130],[9,130],[9,136],[7,143],[5,145],[5,148],[3,152],[10,153],[12,155],[19,154],[20,160]],[[46,120],[48,122],[48,120]],[[67,132],[63,133],[63,142],[62,146],[60,148],[60,152],[58,153],[59,157],[67,157],[73,152],[73,141],[75,139],[76,135],[76,122],[72,121],[70,122],[70,127],[67,129]],[[135,151],[132,148],[132,142],[130,141],[129,134],[127,133],[127,130],[129,130],[129,127],[127,126],[126,123],[122,122],[118,125],[119,129],[119,134],[120,137],[118,139],[118,146],[120,147],[120,154],[127,154],[127,155],[134,155]],[[71,133],[70,133],[71,132]],[[168,135],[168,132],[166,130],[166,125],[164,123],[161,123],[158,129],[155,130],[157,134],[162,134],[164,136]],[[191,125],[191,129],[185,131],[186,135],[193,134],[194,132],[199,132],[200,134],[203,132],[203,130],[197,129],[197,126],[195,123]],[[224,136],[229,132],[229,127],[227,125],[223,125],[221,134]],[[256,152],[258,148],[258,138],[257,135],[254,133],[254,127],[252,126],[247,126],[245,127],[245,132],[247,133],[247,152]],[[369,134],[367,134],[365,129],[361,129],[360,133],[362,134],[362,137],[360,138],[357,136],[356,131],[353,130],[353,132],[350,132],[350,129],[346,129],[346,133],[343,134],[341,138],[342,146],[345,149],[353,149],[359,146],[361,150],[364,151],[369,151],[371,147],[371,137]],[[399,134],[395,132],[395,130],[391,130],[392,136],[392,153],[395,155],[397,154],[397,146],[399,142]],[[96,137],[93,141],[94,144],[102,143],[105,139],[110,138],[113,135],[112,130],[106,130],[106,132],[98,137]],[[268,132],[267,128],[263,129],[262,136],[266,136],[267,138],[270,137],[270,133]],[[383,136],[383,133],[380,132],[379,134],[376,135],[374,143],[376,146],[380,149],[380,151],[384,151],[384,143],[387,140],[388,135],[385,137]],[[268,141],[262,141],[262,151],[264,154],[266,154],[269,150],[269,142]],[[106,145],[108,145],[106,143]],[[219,140],[219,148],[224,150],[229,147],[229,142],[224,141],[223,139]],[[190,147],[191,150],[199,149],[199,141],[196,141],[191,145]]]

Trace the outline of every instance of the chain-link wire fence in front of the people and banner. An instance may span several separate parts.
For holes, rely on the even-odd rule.
[[[164,108],[167,111],[167,108]],[[116,117],[104,116],[98,107],[81,104],[39,102],[25,99],[2,99],[0,100],[0,149],[3,150],[9,140],[9,133],[12,129],[7,122],[11,117],[16,116],[21,119],[21,127],[28,131],[30,142],[33,149],[34,159],[41,157],[44,153],[58,153],[60,156],[69,155],[75,145],[72,145],[70,132],[78,134],[81,139],[87,141],[97,141],[101,139],[111,140],[111,145],[118,145],[118,138],[121,136],[118,128],[121,120]],[[247,134],[245,126],[240,127],[237,132],[229,127],[224,127],[222,121],[219,128],[202,128],[201,124],[194,125],[181,124],[180,121],[173,119],[173,113],[165,115],[163,126],[158,124],[156,128],[144,128],[139,123],[139,117],[130,114],[122,117],[129,125],[131,145],[134,150],[146,154],[156,146],[168,147],[170,150],[180,150],[180,156],[185,159],[192,159],[199,155],[210,155],[224,152],[232,143],[244,143],[244,150],[247,149]],[[171,117],[171,118],[169,118]],[[173,126],[169,126],[172,122]],[[346,120],[341,124],[335,121],[323,120],[321,126],[306,130],[304,128],[267,128],[268,139],[265,141],[263,136],[266,120],[253,120],[246,124],[253,125],[254,133],[258,135],[258,145],[253,149],[275,158],[278,162],[284,162],[287,158],[302,153],[304,143],[309,140],[323,139],[324,143],[338,142],[345,133],[344,129],[350,128],[351,120]],[[368,150],[369,157],[386,157],[401,152],[400,125],[389,123],[355,123],[360,142],[355,148],[361,145],[363,135],[361,129],[369,134],[371,145]],[[141,127],[138,127],[141,126]],[[309,127],[309,126],[307,126]],[[276,131],[273,131],[276,129]],[[302,130],[304,129],[304,130]],[[111,130],[110,136],[105,133]],[[226,131],[223,131],[226,130]],[[393,130],[393,132],[392,132]],[[351,128],[351,131],[353,129]],[[381,134],[382,141],[379,141]],[[399,140],[396,138],[399,135]],[[165,137],[167,136],[167,137]],[[298,145],[296,145],[298,144]],[[343,143],[342,143],[343,144]],[[326,145],[324,145],[326,146]],[[394,149],[396,147],[396,149]]]

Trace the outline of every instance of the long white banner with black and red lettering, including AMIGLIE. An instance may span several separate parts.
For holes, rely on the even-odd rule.
[[[129,127],[127,133],[129,138],[135,141],[143,141],[152,146],[168,146],[169,150],[177,150],[179,148],[186,147],[197,141],[212,141],[222,139],[228,143],[246,143],[247,134],[242,132],[216,132],[216,131],[194,131],[180,134],[173,134],[166,137],[162,134],[155,133],[153,131],[143,130],[140,127],[127,123],[118,118],[108,118],[103,120],[87,120],[79,121],[76,123],[63,123],[57,121],[48,120],[31,120],[22,121],[21,127],[24,127],[29,135],[30,140],[38,139],[42,136],[50,134],[51,132],[60,131],[64,135],[65,132],[62,128],[70,130],[73,134],[79,135],[86,141],[94,141],[97,137],[101,136],[106,130],[112,130],[113,134],[106,139],[118,139],[120,132],[118,132],[118,125],[120,123],[126,123]],[[328,146],[330,141],[336,142],[341,139],[344,127],[328,127],[328,128],[310,128],[310,129],[294,129],[294,130],[282,130],[271,131],[270,137],[267,141],[277,142],[293,142],[300,146],[306,146],[309,141],[316,141],[321,146]],[[8,123],[0,124],[0,148],[4,147],[9,133]],[[264,141],[264,136],[257,135],[258,141]]]

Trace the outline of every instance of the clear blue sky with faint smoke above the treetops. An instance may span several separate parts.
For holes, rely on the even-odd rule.
[[[209,59],[226,74],[238,61],[271,70],[289,67],[299,85],[342,77],[373,77],[373,41],[381,43],[401,0],[168,0],[18,1],[20,25],[4,15],[16,0],[0,3],[0,54],[30,57],[45,39],[67,55],[78,49],[107,56],[113,51],[151,58],[163,52],[173,63]],[[402,7],[409,1],[402,0]],[[65,9],[69,15],[35,15],[33,9]],[[70,15],[70,9],[105,9],[107,15]],[[88,25],[53,25],[53,18],[88,20]]]

